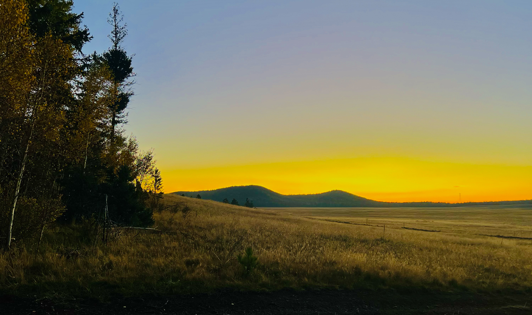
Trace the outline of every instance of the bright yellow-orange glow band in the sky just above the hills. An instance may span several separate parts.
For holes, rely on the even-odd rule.
[[[285,195],[340,189],[387,202],[532,199],[532,167],[518,165],[356,158],[163,169],[162,175],[167,193],[260,185]]]

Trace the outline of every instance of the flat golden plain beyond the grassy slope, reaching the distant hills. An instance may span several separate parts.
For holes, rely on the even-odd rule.
[[[260,208],[317,220],[386,229],[423,229],[437,234],[490,239],[505,236],[532,245],[532,208],[471,206],[456,208]],[[407,230],[407,229],[405,229]],[[386,231],[384,231],[386,233]],[[427,232],[429,233],[429,232]],[[515,238],[514,238],[515,237]],[[500,239],[501,237],[499,237]],[[493,240],[495,241],[495,240]],[[500,242],[500,241],[499,241]],[[503,241],[504,243],[504,241]]]

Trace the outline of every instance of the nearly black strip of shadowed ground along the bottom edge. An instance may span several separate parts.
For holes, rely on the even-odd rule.
[[[2,314],[530,314],[530,296],[321,290],[217,292],[61,303],[3,296]],[[124,307],[125,306],[125,307]]]

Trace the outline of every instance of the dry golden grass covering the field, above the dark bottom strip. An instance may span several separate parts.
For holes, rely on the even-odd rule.
[[[222,287],[528,291],[532,286],[531,241],[501,244],[501,238],[477,235],[509,235],[514,227],[526,236],[526,222],[508,219],[522,210],[488,209],[483,215],[475,209],[268,210],[175,195],[164,201],[186,202],[193,215],[156,213],[160,233],[128,232],[108,246],[94,247],[94,236],[85,235],[82,226],[57,227],[38,254],[22,246],[0,254],[0,286],[18,293],[91,296]],[[382,227],[327,219],[385,223],[385,237]],[[403,222],[442,232],[402,229]],[[77,242],[80,237],[85,242]],[[249,277],[235,258],[247,246],[260,263]],[[69,255],[73,248],[80,255]]]

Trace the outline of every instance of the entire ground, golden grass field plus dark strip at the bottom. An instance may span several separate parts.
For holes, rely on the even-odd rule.
[[[528,209],[163,201],[179,206],[155,213],[156,230],[102,244],[78,222],[0,253],[0,313],[530,313]]]

